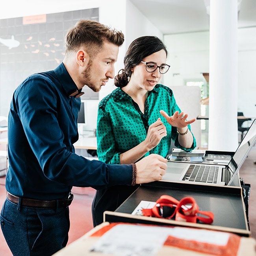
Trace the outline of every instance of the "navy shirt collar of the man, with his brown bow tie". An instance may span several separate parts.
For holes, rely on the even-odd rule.
[[[63,62],[61,62],[61,64],[54,69],[54,72],[68,96],[80,97],[83,95],[83,92],[81,92],[82,89],[78,90]]]

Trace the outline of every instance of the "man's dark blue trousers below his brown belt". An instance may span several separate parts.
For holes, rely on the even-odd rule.
[[[33,208],[8,199],[1,211],[1,228],[14,256],[48,256],[67,245],[68,208]]]

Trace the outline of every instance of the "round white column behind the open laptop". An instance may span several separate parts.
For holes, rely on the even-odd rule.
[[[237,59],[237,0],[211,0],[209,150],[238,146]]]

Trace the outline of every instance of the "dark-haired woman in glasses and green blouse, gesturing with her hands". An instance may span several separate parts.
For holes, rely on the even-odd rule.
[[[115,77],[118,88],[99,104],[99,160],[130,164],[149,154],[166,157],[172,139],[183,150],[196,147],[189,125],[195,119],[186,121],[187,114],[180,111],[172,90],[158,84],[170,67],[166,58],[167,50],[158,37],[139,37],[129,46],[124,69]],[[115,210],[133,190],[115,186],[97,191],[93,203],[95,224],[100,223],[96,219],[104,210]]]

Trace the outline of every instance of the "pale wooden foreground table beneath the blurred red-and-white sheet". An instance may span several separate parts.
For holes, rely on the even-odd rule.
[[[53,256],[70,256],[70,255],[76,255],[76,256],[112,256],[113,254],[102,254],[100,252],[90,252],[91,247],[100,239],[99,232],[107,229],[108,226],[110,226],[108,222],[104,222],[89,232],[87,232],[85,235],[68,245],[67,247],[59,250],[56,252]],[[98,232],[98,233],[96,233]],[[239,244],[239,250],[237,252],[237,256],[255,256],[255,247],[256,241],[254,238],[251,237],[241,237],[240,244]],[[155,254],[156,256],[169,256],[169,255],[182,255],[182,256],[210,256],[212,254],[208,253],[198,253],[196,251],[192,250],[185,250],[181,249],[179,247],[174,246],[168,246],[164,245],[161,246],[158,252]]]

